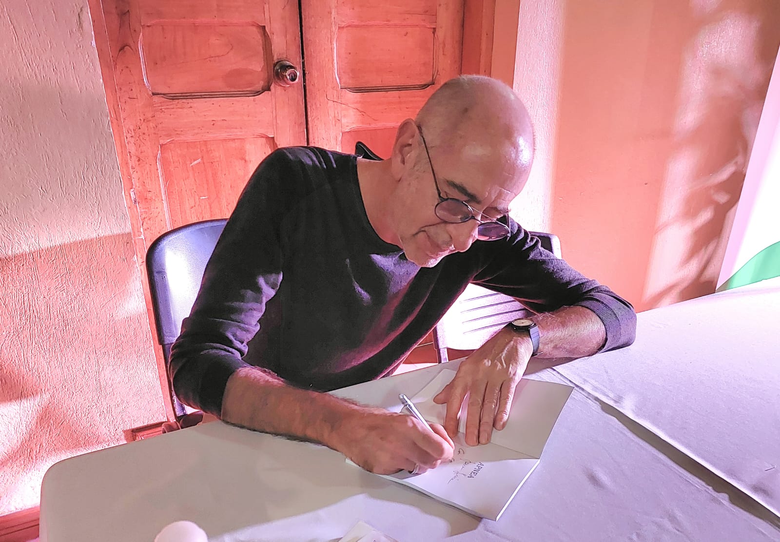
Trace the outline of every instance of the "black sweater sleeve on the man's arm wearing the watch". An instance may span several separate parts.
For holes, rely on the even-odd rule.
[[[631,303],[545,250],[515,221],[509,221],[509,228],[509,238],[486,246],[488,256],[473,279],[475,284],[512,296],[537,313],[574,305],[592,310],[607,335],[599,352],[633,343],[636,313]]]

